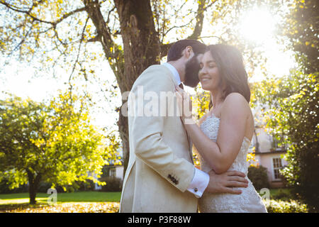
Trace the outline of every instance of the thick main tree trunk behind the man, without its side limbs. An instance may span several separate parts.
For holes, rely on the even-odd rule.
[[[159,64],[159,36],[155,31],[149,0],[115,0],[121,21],[124,50],[124,73],[118,75],[123,92],[130,91],[138,76],[150,65]],[[126,100],[123,100],[123,104]],[[124,172],[128,166],[128,118],[119,111],[118,128],[123,143]]]

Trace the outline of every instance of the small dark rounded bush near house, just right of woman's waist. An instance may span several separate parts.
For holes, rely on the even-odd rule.
[[[269,181],[267,175],[267,168],[262,167],[261,165],[255,167],[248,167],[248,175],[247,177],[254,185],[254,188],[260,190],[262,188],[269,188]]]

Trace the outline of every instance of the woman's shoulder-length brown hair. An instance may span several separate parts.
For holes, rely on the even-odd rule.
[[[216,44],[208,45],[218,67],[218,73],[222,83],[226,88],[223,90],[223,99],[232,92],[238,92],[250,102],[250,87],[247,80],[242,54],[232,45]],[[212,101],[209,103],[209,109],[213,107]]]

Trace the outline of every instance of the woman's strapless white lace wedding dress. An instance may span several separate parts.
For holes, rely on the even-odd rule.
[[[207,116],[207,118],[201,123],[201,130],[205,135],[208,136],[211,140],[217,140],[218,128],[219,128],[220,119],[215,115]],[[237,170],[244,172],[247,176],[248,167],[247,167],[247,150],[250,147],[250,140],[244,138],[242,141],[242,147],[238,153],[233,165],[229,170]],[[211,171],[205,160],[199,156],[199,161],[201,163],[201,170],[204,172]],[[203,193],[203,196],[198,201],[198,210],[201,213],[243,213],[243,212],[254,212],[254,213],[264,213],[267,212],[262,198],[254,189],[252,182],[248,179],[248,187],[240,188],[242,194],[210,194]]]

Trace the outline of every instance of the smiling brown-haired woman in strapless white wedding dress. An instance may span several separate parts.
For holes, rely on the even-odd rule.
[[[247,150],[254,131],[250,109],[250,87],[241,53],[230,45],[209,45],[203,55],[198,77],[211,92],[210,110],[199,121],[191,118],[191,100],[177,87],[181,118],[198,151],[201,170],[221,174],[228,170],[247,176]],[[188,114],[190,113],[190,114]],[[242,194],[203,193],[198,210],[204,212],[267,212],[261,197],[248,180]]]

